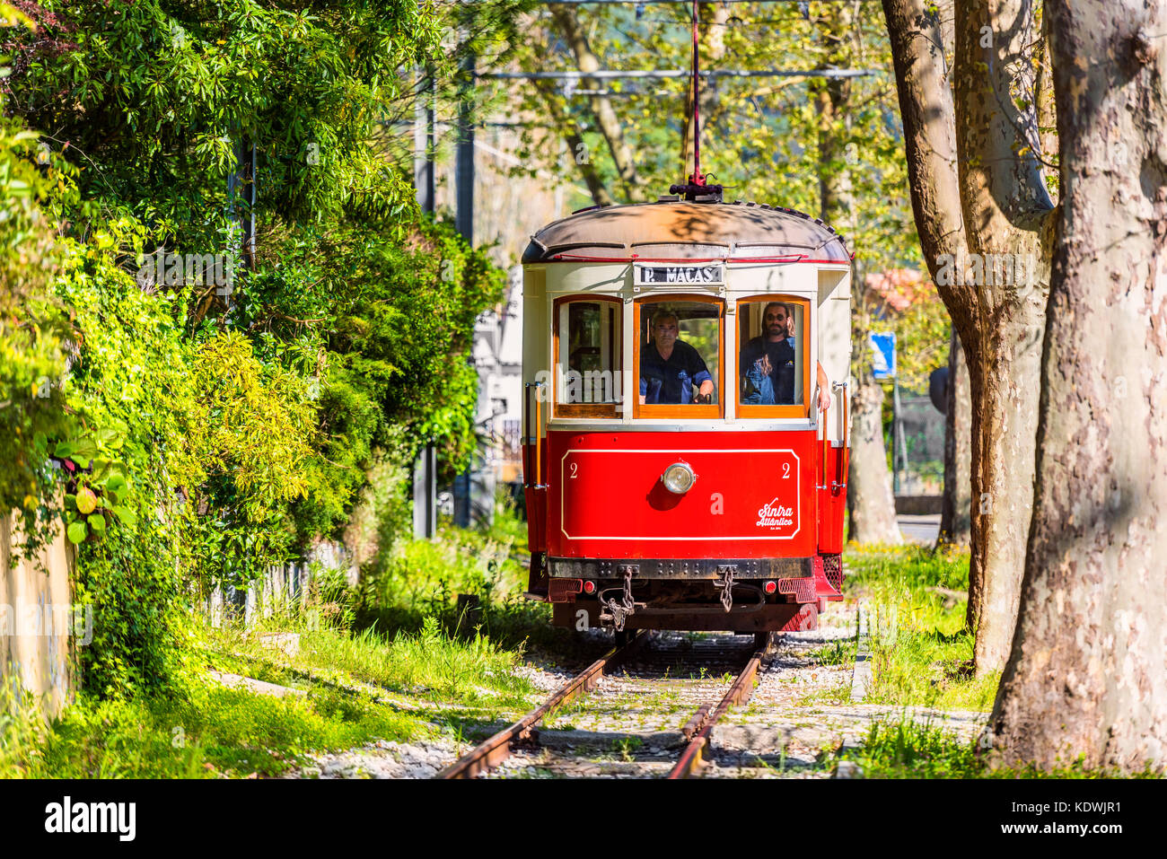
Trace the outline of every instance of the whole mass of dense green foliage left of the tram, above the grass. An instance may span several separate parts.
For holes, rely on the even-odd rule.
[[[473,448],[467,358],[502,273],[419,222],[385,125],[412,116],[413,68],[450,79],[447,12],[29,8],[37,28],[11,40],[4,84],[20,119],[0,124],[0,432],[18,440],[0,504],[49,524],[48,456],[81,466],[62,512],[77,601],[95,609],[84,685],[184,689],[193,598],[336,535],[359,498],[386,495],[368,475],[417,445],[445,441],[453,468]],[[137,278],[159,251],[237,260],[242,142],[260,239],[230,305],[205,277]],[[393,486],[380,512],[400,518]]]

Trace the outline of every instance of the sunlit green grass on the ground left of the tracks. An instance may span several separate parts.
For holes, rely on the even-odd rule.
[[[0,690],[0,777],[274,776],[308,752],[433,735],[435,724],[450,724],[447,706],[463,720],[526,710],[541,693],[516,669],[550,617],[545,606],[518,600],[523,551],[525,523],[502,507],[489,533],[446,528],[434,542],[397,546],[359,591],[326,574],[313,608],[246,631],[207,624],[193,642],[209,666],[307,696],[263,696],[198,676],[166,697],[81,697],[46,726],[27,700],[18,706]],[[482,601],[477,633],[459,628],[456,593]],[[295,655],[261,643],[288,631],[300,636]]]

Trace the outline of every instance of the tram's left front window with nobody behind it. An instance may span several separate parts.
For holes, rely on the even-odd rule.
[[[619,302],[564,301],[558,322],[555,401],[607,406],[620,403]]]

